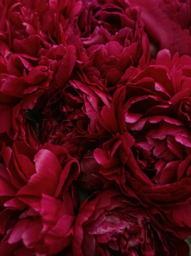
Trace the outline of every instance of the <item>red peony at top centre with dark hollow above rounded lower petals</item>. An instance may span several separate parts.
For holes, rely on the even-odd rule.
[[[87,50],[78,56],[78,62],[90,86],[113,90],[127,68],[144,68],[149,62],[148,38],[139,13],[124,0],[84,0],[73,26]]]

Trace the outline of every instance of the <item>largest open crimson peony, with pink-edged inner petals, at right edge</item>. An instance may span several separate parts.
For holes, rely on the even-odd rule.
[[[101,124],[111,134],[94,157],[102,166],[105,187],[121,191],[162,210],[180,227],[191,227],[191,58],[167,50],[156,65],[127,71],[104,106]]]

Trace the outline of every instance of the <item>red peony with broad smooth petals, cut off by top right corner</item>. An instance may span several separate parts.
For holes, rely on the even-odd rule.
[[[127,0],[140,11],[140,20],[152,43],[173,55],[191,56],[190,0]]]

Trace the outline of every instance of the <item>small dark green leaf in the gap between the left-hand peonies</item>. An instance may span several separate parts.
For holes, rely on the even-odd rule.
[[[29,125],[32,126],[34,132],[36,133],[37,138],[39,138],[40,124],[42,123],[42,117],[40,112],[36,109],[28,109],[25,113],[25,116],[28,120]]]

